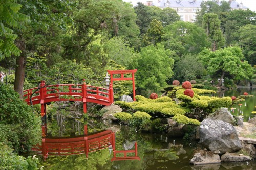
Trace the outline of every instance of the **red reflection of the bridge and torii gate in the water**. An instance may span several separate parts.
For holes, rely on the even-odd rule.
[[[137,153],[137,142],[132,150],[115,150],[115,132],[111,130],[102,130],[87,134],[87,125],[84,125],[84,135],[74,137],[47,137],[47,127],[42,126],[42,143],[32,148],[33,151],[42,154],[44,160],[48,155],[78,155],[95,152],[101,149],[109,148],[113,150],[111,161],[117,160],[140,160]],[[127,155],[129,154],[129,156]],[[120,156],[121,155],[121,156]],[[133,155],[133,156],[130,156]]]

